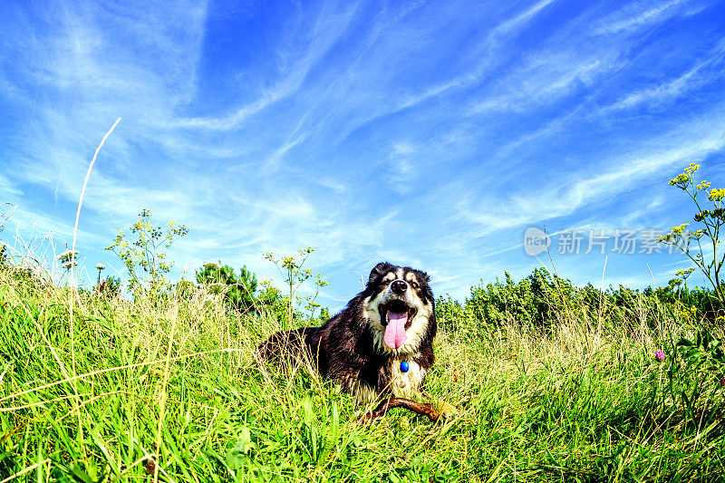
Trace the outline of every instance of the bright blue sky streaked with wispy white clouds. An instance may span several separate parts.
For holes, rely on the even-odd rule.
[[[690,265],[652,237],[694,211],[668,180],[695,162],[725,187],[723,1],[3,0],[0,18],[5,243],[51,265],[72,246],[121,118],[83,198],[86,285],[97,263],[125,275],[104,248],[149,208],[189,227],[173,279],[221,260],[279,285],[263,254],[312,246],[332,309],[383,260],[459,300],[552,262],[662,286]],[[527,254],[530,227],[551,256]]]

